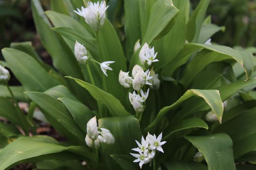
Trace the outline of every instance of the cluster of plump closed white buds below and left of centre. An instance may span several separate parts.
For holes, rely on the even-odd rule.
[[[99,147],[99,143],[114,144],[115,138],[108,129],[100,128],[98,131],[97,119],[93,117],[87,123],[87,134],[85,142],[89,147],[94,145],[95,148]]]

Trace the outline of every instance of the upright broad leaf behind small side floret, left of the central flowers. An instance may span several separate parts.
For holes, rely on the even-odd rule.
[[[125,95],[120,94],[127,93],[127,89],[118,85],[118,75],[120,70],[127,70],[126,59],[118,35],[109,20],[106,19],[103,27],[98,32],[97,40],[101,55],[99,62],[115,61],[110,65],[113,70],[107,71],[107,77],[103,76],[103,89],[124,103]],[[103,73],[101,74],[103,75]]]

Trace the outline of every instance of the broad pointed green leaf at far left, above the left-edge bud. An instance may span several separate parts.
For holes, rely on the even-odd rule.
[[[25,90],[45,91],[59,84],[58,81],[51,77],[30,55],[9,48],[3,49],[2,54],[8,67],[12,70]]]

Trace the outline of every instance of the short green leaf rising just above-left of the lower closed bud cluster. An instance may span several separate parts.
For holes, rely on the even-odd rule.
[[[86,134],[86,123],[94,117],[92,111],[84,104],[69,98],[58,98],[62,102],[81,130]]]

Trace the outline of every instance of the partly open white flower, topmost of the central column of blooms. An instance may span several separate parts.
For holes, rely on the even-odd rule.
[[[139,61],[143,66],[147,68],[153,62],[158,61],[158,59],[155,59],[157,57],[157,54],[158,54],[157,52],[155,54],[154,47],[149,48],[148,44],[145,43],[139,51],[139,54],[138,54]]]

